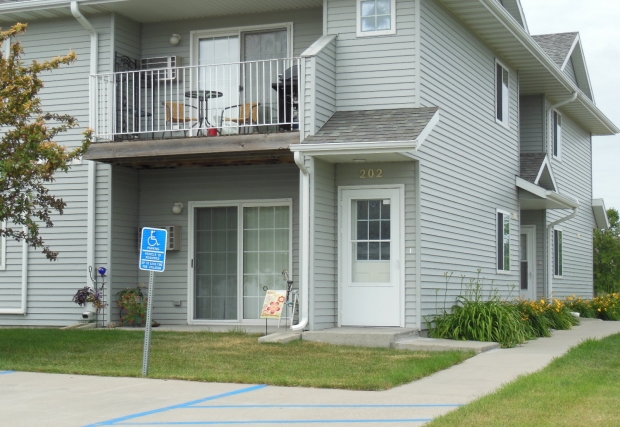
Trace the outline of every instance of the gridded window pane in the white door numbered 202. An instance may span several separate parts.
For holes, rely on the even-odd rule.
[[[390,281],[390,200],[353,200],[353,282]]]

